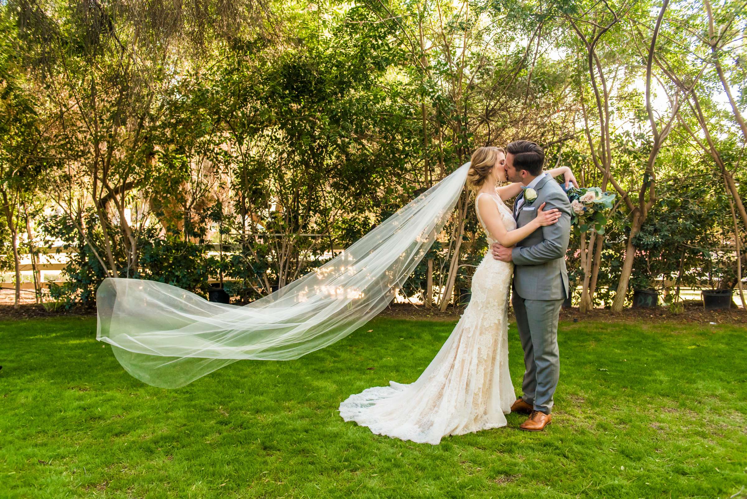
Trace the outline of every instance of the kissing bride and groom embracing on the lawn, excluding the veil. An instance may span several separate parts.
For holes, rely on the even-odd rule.
[[[504,427],[510,412],[528,415],[520,430],[550,424],[560,372],[558,314],[570,293],[565,251],[571,230],[571,203],[553,179],[562,175],[566,187],[578,185],[568,167],[545,171],[544,164],[544,150],[529,140],[472,154],[466,182],[491,250],[474,271],[471,300],[415,382],[391,381],[351,395],[339,407],[345,421],[429,444]],[[509,293],[524,349],[518,398],[509,374]]]

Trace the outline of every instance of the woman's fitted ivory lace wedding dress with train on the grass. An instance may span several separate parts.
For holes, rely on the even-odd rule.
[[[516,228],[511,210],[498,196],[506,230]],[[480,217],[477,219],[493,241]],[[509,375],[508,297],[513,264],[495,260],[488,251],[472,277],[467,309],[436,357],[418,379],[405,385],[367,388],[340,404],[345,421],[419,443],[438,444],[441,437],[506,426],[515,401]]]

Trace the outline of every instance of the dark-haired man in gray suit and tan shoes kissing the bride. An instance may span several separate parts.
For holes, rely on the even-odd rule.
[[[560,306],[568,296],[565,250],[571,232],[571,203],[562,187],[542,172],[545,151],[529,140],[518,140],[506,147],[506,176],[521,182],[521,194],[514,204],[516,226],[525,226],[537,216],[537,207],[557,208],[561,217],[551,226],[532,232],[513,248],[496,243],[493,257],[513,261],[512,305],[524,349],[523,397],[511,406],[512,412],[530,417],[521,430],[541,431],[552,417],[553,394],[558,383],[560,358],[557,329]]]

